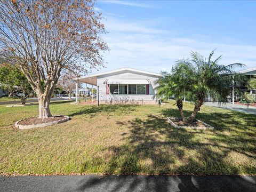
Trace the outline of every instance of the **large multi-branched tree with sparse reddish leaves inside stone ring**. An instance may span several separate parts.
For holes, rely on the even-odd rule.
[[[0,48],[12,53],[39,102],[39,118],[51,117],[50,100],[63,69],[86,73],[103,66],[105,33],[91,0],[2,0]]]

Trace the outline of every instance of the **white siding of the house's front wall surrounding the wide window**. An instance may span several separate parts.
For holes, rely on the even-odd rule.
[[[98,77],[99,86],[99,100],[100,101],[110,101],[113,100],[144,100],[152,101],[153,95],[155,94],[154,88],[156,87],[155,81],[158,77],[154,75],[147,75],[142,73],[136,73],[133,71],[125,70],[117,73],[112,73],[108,75],[102,75]],[[106,94],[106,84],[104,82],[106,79],[149,79],[151,84],[149,85],[149,94]],[[139,83],[139,82],[138,82]]]

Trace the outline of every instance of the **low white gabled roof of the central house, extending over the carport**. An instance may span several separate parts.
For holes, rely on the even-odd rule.
[[[117,73],[117,72],[126,71],[126,70],[127,71],[132,71],[132,72],[135,72],[135,73],[154,75],[154,76],[158,76],[158,77],[161,76],[161,74],[158,74],[158,73],[153,73],[153,72],[149,72],[149,71],[145,71],[145,70],[139,70],[139,69],[133,69],[133,68],[125,67],[125,68],[121,68],[121,69],[115,69],[115,70],[106,71],[106,72],[102,72],[102,73],[97,73],[97,74],[93,74],[93,75],[89,75],[89,76],[83,76],[83,77],[75,78],[75,80],[77,80],[79,82],[83,82],[83,83],[88,83],[88,84],[91,84],[91,85],[97,85],[97,77],[98,76],[107,75],[107,74],[111,74],[111,73]]]

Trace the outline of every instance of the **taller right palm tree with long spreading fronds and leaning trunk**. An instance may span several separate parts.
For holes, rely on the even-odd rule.
[[[214,51],[210,53],[207,59],[197,52],[191,52],[190,54],[192,57],[191,60],[180,60],[179,63],[180,65],[188,66],[183,69],[189,70],[190,76],[188,79],[190,80],[189,83],[192,84],[190,85],[192,89],[190,87],[187,87],[187,89],[195,95],[194,110],[190,116],[190,122],[193,122],[207,94],[211,95],[213,101],[227,101],[233,81],[244,77],[242,74],[237,74],[234,68],[244,67],[245,65],[241,63],[234,63],[227,66],[219,65],[218,62],[221,56],[212,60]]]

